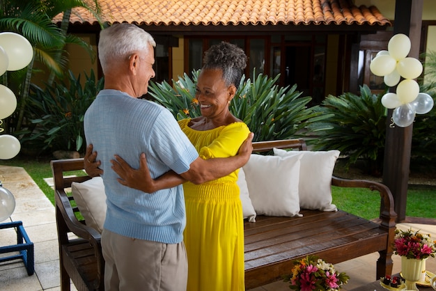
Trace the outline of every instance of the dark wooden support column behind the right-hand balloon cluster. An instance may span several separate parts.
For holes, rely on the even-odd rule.
[[[423,0],[396,0],[394,35],[409,36],[412,47],[408,56],[419,58]],[[413,124],[391,127],[392,109],[387,114],[386,143],[384,146],[383,183],[394,195],[397,222],[406,219],[407,184],[410,171]]]

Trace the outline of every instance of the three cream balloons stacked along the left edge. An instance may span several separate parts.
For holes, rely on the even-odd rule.
[[[0,76],[6,71],[26,68],[32,61],[33,47],[29,40],[13,32],[0,33]],[[17,98],[10,88],[0,84],[1,120],[10,116],[17,108]],[[0,132],[3,129],[0,128]],[[0,159],[12,159],[20,152],[20,141],[9,134],[0,135]]]

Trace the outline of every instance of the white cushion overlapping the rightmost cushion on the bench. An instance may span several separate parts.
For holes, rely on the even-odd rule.
[[[298,180],[301,156],[252,154],[242,168],[256,214],[299,216]]]

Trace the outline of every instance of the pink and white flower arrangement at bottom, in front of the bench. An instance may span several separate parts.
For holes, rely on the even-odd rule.
[[[313,255],[295,260],[291,275],[283,276],[284,282],[290,282],[289,288],[298,291],[334,291],[342,288],[350,278],[338,273],[332,264]]]

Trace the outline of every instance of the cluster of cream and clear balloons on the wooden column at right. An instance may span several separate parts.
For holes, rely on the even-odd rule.
[[[407,57],[410,47],[409,37],[398,33],[389,40],[388,50],[378,52],[369,67],[375,76],[383,77],[387,86],[398,84],[396,93],[383,95],[382,104],[394,109],[392,120],[399,127],[411,125],[416,113],[428,113],[434,103],[430,95],[419,92],[419,84],[414,79],[419,77],[423,67],[416,58]]]

